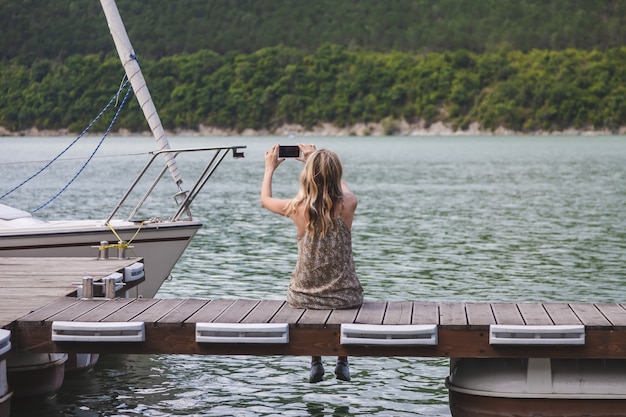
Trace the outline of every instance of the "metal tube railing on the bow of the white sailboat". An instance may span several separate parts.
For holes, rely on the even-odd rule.
[[[193,187],[189,191],[179,191],[176,195],[174,195],[174,200],[176,201],[178,207],[177,207],[176,213],[171,217],[170,220],[178,221],[180,220],[181,216],[184,213],[187,214],[187,219],[191,220],[191,210],[189,209],[189,207],[191,206],[191,203],[193,202],[193,200],[200,193],[200,191],[202,191],[202,188],[205,186],[209,178],[211,178],[211,176],[213,175],[217,167],[222,163],[222,161],[224,160],[226,155],[228,155],[228,153],[232,153],[233,158],[243,158],[244,157],[243,149],[245,148],[246,146],[224,146],[224,147],[211,147],[211,148],[166,149],[166,150],[150,152],[152,154],[152,157],[150,158],[150,160],[148,160],[144,168],[139,172],[139,174],[137,175],[135,180],[132,182],[128,190],[124,193],[120,201],[117,203],[117,205],[115,206],[115,208],[113,209],[109,217],[107,218],[107,223],[113,219],[113,217],[117,214],[119,209],[126,203],[126,200],[131,195],[131,193],[135,190],[135,188],[137,187],[137,184],[140,183],[142,178],[145,176],[146,172],[148,172],[149,168],[152,166],[152,164],[154,163],[154,161],[157,159],[157,157],[160,154],[170,153],[171,155],[173,155],[174,158],[176,158],[179,154],[182,154],[182,153],[202,152],[202,151],[211,152],[212,151],[213,157],[205,165],[204,169],[202,170],[198,179],[194,183]],[[143,204],[146,202],[150,194],[154,191],[155,187],[161,181],[161,179],[163,178],[163,175],[165,174],[165,172],[167,172],[167,170],[168,170],[168,165],[165,164],[163,169],[161,169],[161,171],[157,174],[156,178],[152,181],[151,185],[148,187],[144,195],[141,197],[141,199],[139,200],[135,208],[131,211],[130,215],[127,218],[128,221],[134,221],[134,217],[137,215],[137,213],[139,212]],[[182,200],[179,201],[178,198],[181,196],[183,198]]]

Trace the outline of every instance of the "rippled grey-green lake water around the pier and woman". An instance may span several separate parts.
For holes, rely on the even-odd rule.
[[[1,202],[38,207],[98,140],[83,139],[45,181]],[[295,228],[259,204],[263,153],[278,140],[170,139],[173,147],[247,150],[245,159],[227,158],[194,203],[204,226],[159,297],[284,298]],[[368,300],[624,301],[625,137],[301,140],[336,151],[359,198],[353,244]],[[54,157],[70,141],[0,138],[0,194],[42,166],[26,161]],[[153,148],[147,137],[108,139],[84,175],[38,214],[106,216],[147,160],[139,153]],[[200,168],[200,157],[181,166],[187,183]],[[281,165],[275,195],[296,192],[300,169],[293,160]],[[355,357],[353,381],[345,383],[331,378],[329,357],[330,372],[314,385],[306,382],[308,360],[110,355],[92,372],[67,378],[53,398],[15,401],[12,416],[450,415],[447,359]]]

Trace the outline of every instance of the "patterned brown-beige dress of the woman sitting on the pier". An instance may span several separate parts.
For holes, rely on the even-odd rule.
[[[341,217],[323,237],[306,233],[298,239],[298,262],[287,289],[294,308],[355,308],[363,288],[352,257],[352,235]]]

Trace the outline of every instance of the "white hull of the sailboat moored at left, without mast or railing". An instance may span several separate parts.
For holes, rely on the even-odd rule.
[[[115,233],[103,222],[45,222],[28,227],[0,229],[0,256],[4,257],[97,257],[102,241],[117,243],[118,237],[131,241],[126,256],[144,259],[145,282],[135,297],[151,298],[170,275],[178,259],[202,226],[200,222],[179,221],[134,224],[113,223]],[[116,236],[117,234],[117,236]],[[109,257],[117,257],[109,249]]]

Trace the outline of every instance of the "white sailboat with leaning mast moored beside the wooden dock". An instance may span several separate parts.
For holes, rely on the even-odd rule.
[[[242,149],[245,146],[171,148],[115,1],[101,0],[101,4],[126,76],[156,139],[158,149],[150,152],[152,158],[106,219],[43,221],[27,211],[0,204],[0,256],[75,257],[108,254],[126,257],[132,253],[133,256],[142,257],[145,264],[145,282],[137,287],[136,294],[133,295],[153,297],[170,275],[193,236],[202,227],[202,223],[194,220],[191,215],[192,201],[222,160],[228,154],[235,158],[243,157]],[[212,157],[207,158],[209,162],[202,174],[186,191],[183,189],[176,157],[182,153],[200,151],[209,152]],[[164,161],[165,165],[159,175],[130,216],[117,218],[120,207],[127,203],[133,192],[137,192],[138,184],[145,180],[146,173],[151,166],[158,163],[157,160]],[[173,214],[168,218],[136,219],[143,203],[167,171],[178,189],[174,195],[176,204]]]

